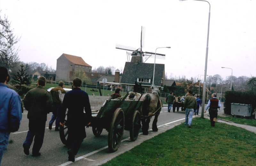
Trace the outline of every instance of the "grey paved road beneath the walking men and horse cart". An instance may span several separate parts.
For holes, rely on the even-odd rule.
[[[201,108],[200,111],[201,112]],[[46,129],[44,134],[44,143],[40,150],[41,156],[32,157],[32,146],[30,148],[30,155],[25,155],[23,152],[22,144],[26,139],[28,131],[28,119],[27,111],[25,110],[22,114],[22,121],[18,132],[11,133],[10,140],[7,150],[4,152],[2,159],[2,166],[10,165],[100,165],[111,158],[123,153],[124,151],[130,150],[134,146],[141,142],[152,138],[153,136],[160,134],[175,125],[179,125],[185,121],[185,112],[167,112],[167,107],[162,108],[162,111],[158,117],[157,126],[158,132],[152,132],[147,136],[140,133],[138,139],[134,142],[129,139],[129,131],[124,130],[123,142],[119,149],[115,153],[108,151],[108,132],[103,130],[100,137],[95,137],[92,133],[92,127],[86,128],[87,137],[81,145],[81,148],[76,155],[76,162],[68,162],[67,147],[60,141],[59,132],[48,129],[48,124],[51,119],[52,113],[48,114]],[[200,115],[199,115],[200,116]],[[207,114],[206,114],[207,116]],[[153,118],[152,118],[153,119]],[[149,128],[152,127],[153,120]],[[53,125],[55,126],[55,125]],[[140,131],[141,132],[141,131]]]

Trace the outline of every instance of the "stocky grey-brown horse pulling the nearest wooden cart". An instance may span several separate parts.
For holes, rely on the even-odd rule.
[[[161,90],[161,87],[156,88],[155,85],[153,85],[152,93],[145,93],[140,98],[140,100],[143,100],[143,105],[140,110],[141,115],[144,117],[141,119],[143,135],[148,135],[148,128],[149,128],[149,123],[150,123],[150,119],[152,118],[152,115],[155,115],[155,118],[152,124],[152,130],[158,131],[156,123],[162,109],[162,102],[159,98],[160,90]]]

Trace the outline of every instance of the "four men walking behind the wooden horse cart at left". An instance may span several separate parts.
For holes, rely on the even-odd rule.
[[[0,67],[0,165],[2,156],[7,147],[11,132],[19,130],[23,108],[20,96],[13,88],[7,86],[10,75],[4,67]],[[44,141],[47,114],[52,112],[49,129],[56,120],[55,131],[59,126],[64,126],[66,110],[68,109],[68,161],[75,161],[81,143],[86,137],[85,126],[89,126],[92,119],[92,111],[88,94],[80,89],[82,80],[73,80],[73,90],[66,93],[63,89],[64,82],[50,92],[44,89],[46,79],[40,76],[36,88],[29,90],[24,98],[24,107],[28,111],[28,134],[23,143],[24,153],[29,155],[29,148],[34,140],[32,156],[40,156],[40,149]],[[66,93],[61,104],[59,92]],[[86,116],[84,114],[86,112]],[[67,124],[66,124],[67,125]]]

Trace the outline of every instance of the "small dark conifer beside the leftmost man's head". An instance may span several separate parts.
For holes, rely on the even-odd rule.
[[[31,85],[31,80],[28,77],[27,73],[25,73],[24,71],[26,71],[26,69],[24,70],[23,67],[24,65],[21,64],[21,70],[19,69],[20,72],[17,72],[17,75],[14,75],[12,82],[12,85],[15,85],[15,88],[18,90],[18,93],[20,95],[27,93],[27,91],[29,90],[26,86],[30,86]],[[26,86],[24,86],[26,85]]]

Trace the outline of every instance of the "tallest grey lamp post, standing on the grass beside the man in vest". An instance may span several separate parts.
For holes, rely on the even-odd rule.
[[[180,0],[183,1],[183,0]],[[195,1],[204,1],[204,0],[195,0]],[[208,42],[209,42],[209,30],[210,30],[210,15],[211,15],[211,4],[208,1],[205,1],[209,4],[209,16],[208,16],[208,32],[207,32],[207,44],[206,44],[206,55],[205,55],[205,67],[204,67],[204,83],[203,83],[203,102],[205,103],[205,88],[206,88],[206,73],[207,73],[207,59],[208,59]],[[204,118],[204,104],[202,105],[201,118]]]

